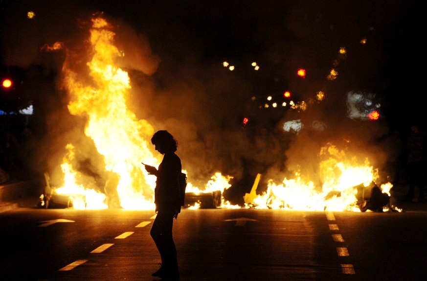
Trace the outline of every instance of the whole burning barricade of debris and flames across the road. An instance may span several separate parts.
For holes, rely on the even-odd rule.
[[[139,118],[131,110],[131,78],[129,72],[120,68],[117,63],[127,58],[127,52],[117,47],[115,35],[112,24],[99,14],[91,19],[90,37],[84,44],[87,49],[73,49],[60,42],[54,43],[52,47],[43,47],[43,51],[64,52],[61,86],[69,100],[68,113],[81,121],[67,134],[67,143],[62,147],[62,163],[51,167],[50,174],[55,183],[52,186],[55,187],[50,186],[50,179],[46,177],[46,186],[51,190],[43,194],[43,208],[59,205],[74,209],[155,209],[154,179],[139,164],[141,161],[154,166],[160,163],[160,159],[154,156],[148,145],[155,131],[154,125],[147,119]],[[146,62],[151,63],[144,69],[144,74],[149,75],[155,72],[159,59],[151,53],[148,43],[144,44],[144,52],[139,55],[145,56]],[[160,95],[159,98],[161,99]],[[316,100],[323,101],[324,95]],[[315,101],[313,104],[316,104]],[[305,106],[295,108],[298,113],[303,111],[307,114]],[[317,119],[311,120],[307,115],[304,117],[306,121],[317,124]],[[164,125],[162,121],[155,121],[157,126]],[[168,121],[175,125],[180,123],[180,120],[175,119]],[[192,126],[188,127],[190,129],[185,128],[185,132],[194,134]],[[378,187],[375,184],[379,182],[379,172],[369,163],[363,148],[340,149],[332,141],[317,140],[315,134],[320,134],[326,127],[313,125],[311,130],[305,129],[307,132],[298,130],[294,138],[296,141],[292,140],[286,151],[289,172],[273,165],[265,168],[263,175],[266,178],[271,176],[271,179],[267,186],[258,187],[261,173],[257,176],[256,184],[244,196],[245,207],[307,211],[381,211],[389,208],[389,194],[386,194],[389,189],[385,189],[392,185],[385,183]],[[356,133],[354,135],[357,136]],[[241,136],[240,133],[238,136]],[[352,138],[353,136],[343,137],[338,133],[334,135],[335,141],[345,139],[345,145]],[[230,138],[233,141],[235,139],[238,138]],[[239,142],[236,146],[248,148],[248,152],[242,153],[247,157],[246,162],[263,162],[270,157],[270,151],[264,151],[264,158],[257,151],[252,153],[252,147],[244,146],[244,142]],[[320,142],[326,145],[318,145]],[[195,148],[199,149],[200,145],[195,144],[186,151],[189,158],[194,158]],[[241,152],[234,148],[230,154],[235,156],[238,154],[236,151]],[[282,152],[275,152],[279,153]],[[381,152],[369,156],[380,156],[379,163],[384,158]],[[231,164],[228,164],[236,164],[239,157],[242,156],[230,157],[227,160]],[[285,157],[278,158],[283,160]],[[49,161],[49,164],[55,161]],[[183,163],[185,166],[185,158]],[[199,168],[195,166],[192,167],[194,170]],[[189,175],[189,179],[192,178],[192,170],[184,172]],[[291,176],[285,177],[285,174]],[[232,178],[233,176],[215,171],[211,180],[202,188],[189,182],[186,207],[237,208],[224,198],[224,191],[231,187],[229,181]],[[277,184],[277,179],[283,180]]]

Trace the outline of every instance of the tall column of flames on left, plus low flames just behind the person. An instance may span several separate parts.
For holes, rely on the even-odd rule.
[[[104,156],[105,169],[111,179],[105,187],[84,187],[78,184],[80,174],[72,161],[75,150],[67,145],[67,156],[61,165],[64,186],[55,189],[58,194],[69,195],[75,209],[105,209],[119,206],[126,210],[154,210],[154,176],[148,175],[141,162],[157,166],[160,162],[148,148],[154,128],[146,120],[138,120],[126,106],[130,78],[126,71],[115,66],[123,53],[113,45],[112,26],[102,17],[92,19],[90,46],[93,56],[87,63],[93,83],[81,78],[70,67],[67,56],[63,71],[65,86],[70,95],[70,114],[85,117],[85,134],[93,140],[97,151]],[[55,44],[55,46],[63,46]],[[45,48],[53,50],[53,48]],[[55,48],[57,49],[57,48]],[[184,171],[186,172],[186,171]],[[229,177],[215,174],[204,191],[188,183],[190,192],[210,192],[228,188]]]

